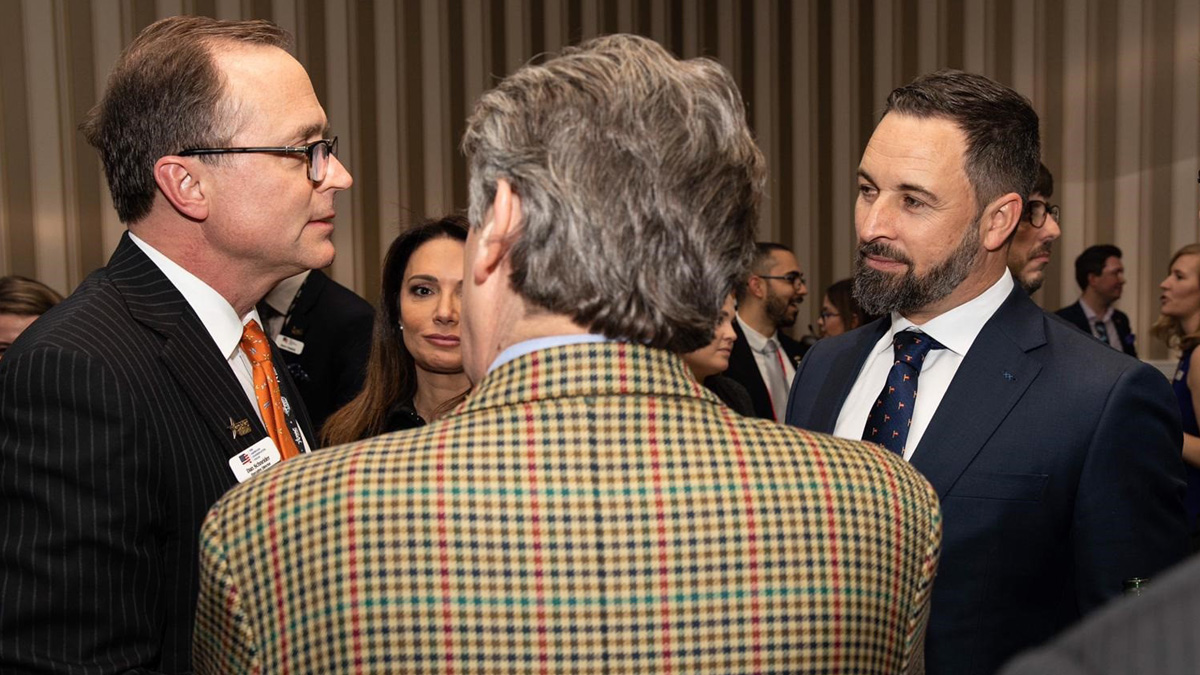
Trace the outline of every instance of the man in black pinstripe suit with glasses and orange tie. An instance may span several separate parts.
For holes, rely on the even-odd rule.
[[[202,518],[316,447],[254,334],[254,303],[332,261],[352,183],[289,46],[164,19],[89,114],[128,232],[0,362],[2,673],[188,671]]]

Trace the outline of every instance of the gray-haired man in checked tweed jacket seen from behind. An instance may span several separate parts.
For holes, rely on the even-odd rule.
[[[919,670],[929,485],[734,414],[674,356],[754,253],[730,73],[598,38],[486,94],[463,149],[474,393],[214,507],[197,671]]]

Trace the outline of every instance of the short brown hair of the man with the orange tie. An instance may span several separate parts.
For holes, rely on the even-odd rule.
[[[236,131],[212,50],[223,44],[290,50],[292,36],[265,20],[170,17],[151,24],[121,53],[82,130],[98,151],[121,222],[154,204],[154,165],[187,148],[221,148]],[[218,162],[220,157],[203,157]]]

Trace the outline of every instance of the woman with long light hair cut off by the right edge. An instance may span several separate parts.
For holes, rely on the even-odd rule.
[[[1152,328],[1156,338],[1172,350],[1182,351],[1171,386],[1180,401],[1183,419],[1183,464],[1188,472],[1188,491],[1183,503],[1192,528],[1192,550],[1198,549],[1200,532],[1200,425],[1196,402],[1200,401],[1200,244],[1188,244],[1171,258],[1170,271],[1159,285],[1163,316]]]

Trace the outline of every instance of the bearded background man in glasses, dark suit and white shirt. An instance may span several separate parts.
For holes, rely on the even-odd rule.
[[[750,269],[745,285],[738,288],[733,321],[738,339],[725,375],[750,393],[756,417],[782,422],[796,365],[808,346],[780,329],[796,324],[809,287],[796,255],[781,244],[756,244]]]

